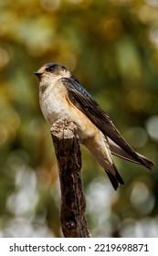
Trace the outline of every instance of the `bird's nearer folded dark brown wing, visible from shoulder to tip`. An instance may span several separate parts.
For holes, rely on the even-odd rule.
[[[129,144],[126,143],[121,136],[121,133],[119,133],[111,122],[110,117],[106,112],[103,112],[100,105],[91,97],[90,93],[79,84],[79,82],[67,78],[62,78],[62,82],[67,88],[69,100],[81,112],[88,116],[90,121],[94,123],[103,134],[111,138],[111,140],[115,144],[118,144],[128,155],[131,155],[135,162],[139,162],[149,169],[152,168],[153,162],[148,159],[146,161],[141,155],[138,155]]]

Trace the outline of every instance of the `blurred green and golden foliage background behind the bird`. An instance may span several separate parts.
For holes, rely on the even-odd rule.
[[[124,137],[157,162],[158,2],[1,0],[0,236],[60,237],[58,168],[33,72],[65,65]],[[83,147],[93,237],[157,237],[157,166],[114,158],[125,185],[113,191]]]

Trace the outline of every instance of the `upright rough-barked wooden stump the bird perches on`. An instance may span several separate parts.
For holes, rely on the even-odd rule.
[[[86,200],[80,177],[79,135],[74,123],[59,119],[50,129],[61,189],[60,223],[66,238],[87,238],[90,232],[85,219]]]

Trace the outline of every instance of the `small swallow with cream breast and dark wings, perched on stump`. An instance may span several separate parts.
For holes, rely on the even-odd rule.
[[[94,155],[115,190],[124,185],[124,181],[112,155],[152,169],[153,161],[132,149],[110,116],[71,71],[60,64],[47,63],[34,73],[39,80],[39,104],[47,123],[53,125],[64,117],[75,123],[79,143]]]

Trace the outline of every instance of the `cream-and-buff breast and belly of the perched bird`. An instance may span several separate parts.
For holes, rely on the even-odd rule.
[[[68,117],[77,125],[80,142],[98,133],[98,128],[68,99],[68,91],[62,82],[39,91],[39,102],[45,119],[50,125],[59,118]]]

